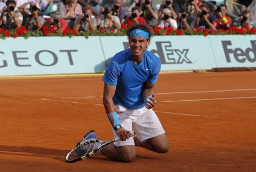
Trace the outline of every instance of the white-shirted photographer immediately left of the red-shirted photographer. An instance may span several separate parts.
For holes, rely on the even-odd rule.
[[[103,15],[103,19],[99,19],[100,27],[103,27],[106,30],[121,28],[120,19],[116,15],[113,15],[111,7],[102,7],[101,14]]]

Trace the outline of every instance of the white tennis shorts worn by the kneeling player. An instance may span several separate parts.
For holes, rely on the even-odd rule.
[[[141,109],[134,110],[126,109],[120,105],[115,105],[115,109],[122,127],[131,132],[134,128],[141,142],[147,140],[148,138],[159,136],[165,133],[161,122],[152,109],[148,110],[146,107],[143,107]],[[112,131],[114,137],[118,137],[115,130],[113,129]],[[126,141],[114,142],[114,144],[117,147],[134,145],[133,137],[130,137]]]

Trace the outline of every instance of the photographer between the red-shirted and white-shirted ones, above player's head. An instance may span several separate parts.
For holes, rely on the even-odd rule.
[[[155,27],[158,22],[158,11],[156,7],[152,7],[152,0],[142,0],[141,17],[146,19],[148,26]]]

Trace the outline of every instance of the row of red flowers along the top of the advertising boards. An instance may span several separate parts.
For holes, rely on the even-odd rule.
[[[6,37],[30,37],[30,36],[85,36],[86,38],[89,36],[125,36],[126,26],[124,24],[121,25],[121,29],[111,29],[106,30],[103,27],[100,27],[98,30],[88,30],[78,32],[74,29],[65,28],[65,30],[60,31],[57,27],[42,27],[39,30],[34,32],[30,32],[24,26],[17,28],[15,30],[9,31],[0,29],[0,38],[4,39]],[[189,30],[173,30],[172,28],[164,27],[163,29],[160,27],[151,27],[150,30],[153,32],[153,35],[255,35],[256,28],[237,28],[231,27],[228,30],[213,30],[213,29],[201,29],[194,28]]]

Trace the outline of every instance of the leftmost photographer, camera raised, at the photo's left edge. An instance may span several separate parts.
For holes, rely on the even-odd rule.
[[[0,17],[0,27],[5,30],[14,30],[21,27],[23,16],[19,11],[16,11],[15,0],[8,0],[6,6],[3,8]]]

